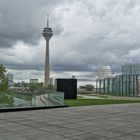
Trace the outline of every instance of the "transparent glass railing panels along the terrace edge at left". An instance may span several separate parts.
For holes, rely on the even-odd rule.
[[[64,105],[64,93],[0,93],[0,109]]]

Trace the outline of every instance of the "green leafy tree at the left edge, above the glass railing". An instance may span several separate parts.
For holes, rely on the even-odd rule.
[[[6,69],[0,64],[0,91],[8,90],[8,79],[6,77]]]

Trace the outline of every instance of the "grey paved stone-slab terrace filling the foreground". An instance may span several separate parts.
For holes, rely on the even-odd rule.
[[[140,104],[0,113],[0,140],[140,140]]]

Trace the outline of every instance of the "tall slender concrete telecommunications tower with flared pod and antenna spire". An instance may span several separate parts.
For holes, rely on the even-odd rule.
[[[45,54],[45,78],[44,86],[48,86],[50,82],[50,67],[49,67],[49,41],[53,36],[52,28],[49,27],[49,15],[47,14],[47,27],[44,28],[42,35],[46,40],[46,54]]]

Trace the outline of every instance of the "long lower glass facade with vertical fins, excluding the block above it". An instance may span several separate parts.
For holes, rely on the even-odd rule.
[[[119,75],[96,80],[96,92],[121,96],[140,96],[140,75]]]

